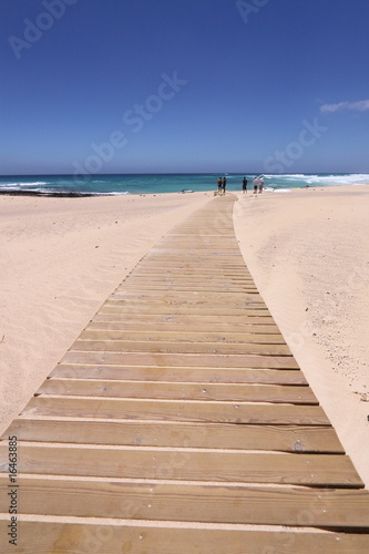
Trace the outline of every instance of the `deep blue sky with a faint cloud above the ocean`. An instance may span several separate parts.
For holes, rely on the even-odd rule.
[[[0,9],[0,174],[369,173],[368,0]]]

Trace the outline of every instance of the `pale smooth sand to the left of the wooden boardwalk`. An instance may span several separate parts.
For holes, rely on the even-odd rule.
[[[209,193],[0,196],[0,430],[106,297]]]

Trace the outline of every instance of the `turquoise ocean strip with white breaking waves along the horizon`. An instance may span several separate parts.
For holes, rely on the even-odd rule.
[[[12,175],[0,176],[0,194],[38,196],[101,196],[120,194],[165,194],[215,191],[219,176],[227,177],[227,191],[240,191],[244,176],[248,188],[255,174],[123,174],[86,175]],[[369,174],[264,174],[266,192],[291,188],[369,184]]]

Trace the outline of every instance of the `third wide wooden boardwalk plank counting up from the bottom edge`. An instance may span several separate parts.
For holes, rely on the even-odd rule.
[[[363,488],[350,459],[337,454],[23,443],[18,445],[18,453],[20,474]],[[0,444],[0,460],[7,458],[8,444]],[[8,460],[0,463],[0,471],[8,473]]]

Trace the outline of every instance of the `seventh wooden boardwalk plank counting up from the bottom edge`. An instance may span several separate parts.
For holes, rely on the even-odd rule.
[[[114,379],[120,381],[166,381],[206,383],[307,384],[299,370],[253,370],[173,367],[130,367],[60,363],[51,377],[70,379]]]

